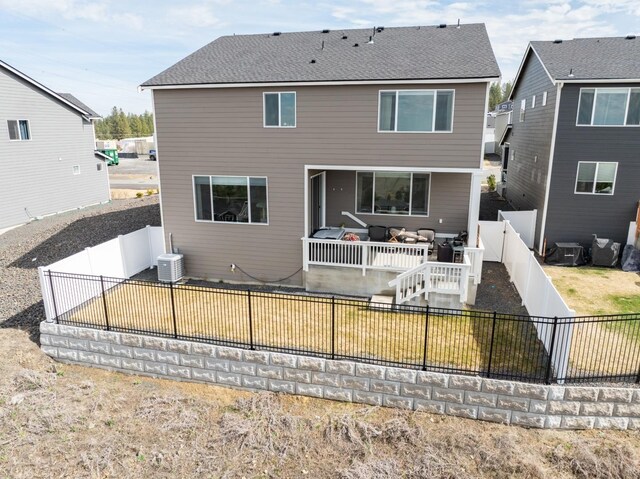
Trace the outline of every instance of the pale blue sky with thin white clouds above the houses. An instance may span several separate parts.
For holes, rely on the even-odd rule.
[[[0,0],[0,59],[101,114],[221,35],[483,22],[502,71],[529,40],[640,34],[640,0]]]

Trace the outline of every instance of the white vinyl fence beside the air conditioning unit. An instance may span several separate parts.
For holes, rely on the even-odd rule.
[[[63,314],[80,304],[97,297],[102,293],[104,285],[95,280],[82,281],[78,278],[65,280],[55,279],[46,272],[86,274],[91,276],[107,276],[110,278],[130,278],[145,269],[158,264],[158,256],[164,253],[164,233],[160,226],[147,226],[126,235],[120,235],[106,243],[99,244],[60,261],[38,268],[40,289],[47,320],[55,318],[55,313]],[[55,298],[51,293],[51,281],[56,282],[56,291],[73,289],[77,294]],[[60,288],[60,282],[68,281],[66,287]],[[72,283],[71,283],[72,282]],[[116,286],[113,280],[107,281],[106,288]],[[54,311],[55,309],[55,311]]]

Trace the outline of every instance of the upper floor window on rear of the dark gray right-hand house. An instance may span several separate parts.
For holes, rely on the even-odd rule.
[[[640,88],[582,88],[578,125],[640,125]]]

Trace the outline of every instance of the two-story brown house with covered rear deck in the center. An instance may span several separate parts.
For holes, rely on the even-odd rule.
[[[323,227],[468,230],[475,246],[499,75],[482,24],[215,40],[142,85],[167,242],[192,277],[336,292],[382,256],[340,253],[331,231],[309,243]]]

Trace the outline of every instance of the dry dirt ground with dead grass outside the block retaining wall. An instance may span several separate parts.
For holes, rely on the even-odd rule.
[[[39,231],[41,243],[83,237],[66,223]],[[0,241],[3,281],[31,258],[12,238]],[[61,364],[38,346],[40,299],[11,298],[0,311],[14,318],[0,324],[2,478],[640,478],[640,432],[528,430]]]

